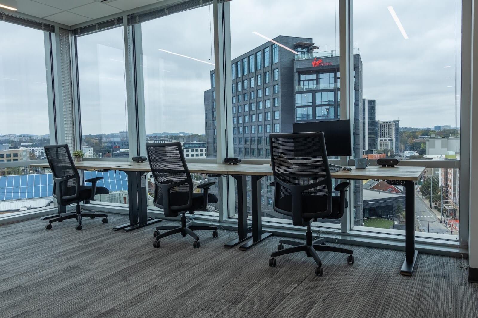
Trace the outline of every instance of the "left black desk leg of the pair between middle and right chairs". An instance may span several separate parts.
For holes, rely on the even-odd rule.
[[[240,244],[246,240],[249,240],[252,236],[248,235],[248,217],[247,217],[247,176],[233,175],[237,180],[238,186],[238,235],[237,239],[231,240],[224,244],[224,247],[231,248]]]

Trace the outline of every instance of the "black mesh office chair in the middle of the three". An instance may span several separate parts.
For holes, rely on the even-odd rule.
[[[163,209],[165,217],[172,218],[181,214],[181,226],[158,226],[153,235],[156,237],[153,246],[160,246],[160,239],[175,233],[183,236],[191,235],[196,241],[194,247],[199,247],[199,236],[194,230],[213,230],[213,237],[217,237],[216,226],[190,225],[186,223],[185,213],[194,214],[195,211],[206,211],[207,203],[216,203],[217,196],[209,193],[209,187],[215,182],[204,182],[197,186],[203,193],[193,192],[193,180],[187,169],[183,148],[180,142],[162,144],[146,144],[148,160],[151,166],[154,183],[153,204]],[[169,230],[159,233],[159,230]]]

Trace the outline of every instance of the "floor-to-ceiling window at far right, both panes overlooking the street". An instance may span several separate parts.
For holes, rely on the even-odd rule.
[[[420,160],[416,231],[458,238],[461,1],[354,1],[353,11],[355,156]],[[404,229],[403,188],[358,182],[354,228]]]

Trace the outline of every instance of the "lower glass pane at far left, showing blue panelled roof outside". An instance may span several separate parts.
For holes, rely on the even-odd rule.
[[[50,170],[29,166],[0,169],[0,215],[53,206]]]

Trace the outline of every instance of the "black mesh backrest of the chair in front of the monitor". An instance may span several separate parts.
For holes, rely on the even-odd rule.
[[[317,206],[314,212],[330,215],[332,177],[324,133],[271,134],[269,138],[274,174],[274,210],[292,216],[293,224],[302,226],[303,196],[317,195],[326,197],[327,206]]]

